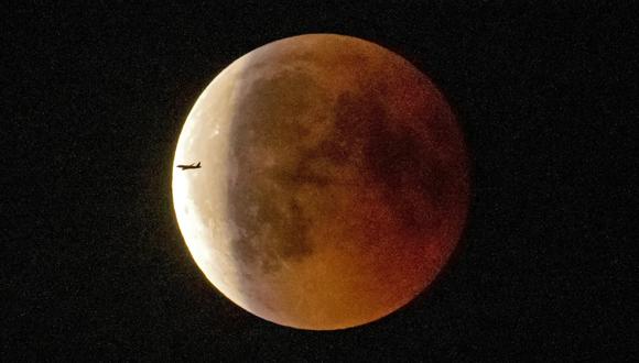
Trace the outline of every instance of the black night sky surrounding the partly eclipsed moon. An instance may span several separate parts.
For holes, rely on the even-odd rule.
[[[637,353],[637,3],[230,2],[2,6],[0,360]],[[334,332],[221,297],[171,200],[177,136],[206,85],[311,32],[373,41],[426,73],[473,160],[467,229],[437,280]]]

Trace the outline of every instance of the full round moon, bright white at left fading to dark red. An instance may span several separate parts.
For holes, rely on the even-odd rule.
[[[172,191],[221,294],[278,324],[344,329],[433,282],[464,228],[468,158],[451,107],[413,65],[368,41],[306,34],[243,55],[206,87]]]

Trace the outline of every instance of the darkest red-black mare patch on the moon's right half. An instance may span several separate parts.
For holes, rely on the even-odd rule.
[[[335,128],[322,150],[335,163],[353,163],[360,184],[381,190],[382,202],[403,232],[424,235],[441,223],[438,209],[446,193],[441,180],[447,179],[442,174],[446,168],[427,155],[414,130],[391,124],[383,89],[383,85],[371,85],[361,94],[339,95]]]

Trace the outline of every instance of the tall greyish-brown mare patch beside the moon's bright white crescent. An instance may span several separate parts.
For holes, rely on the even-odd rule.
[[[312,221],[293,196],[303,184],[328,183],[304,169],[308,146],[304,141],[312,125],[300,122],[300,114],[308,112],[308,103],[321,96],[303,73],[259,79],[243,95],[243,107],[231,123],[229,158],[238,166],[228,190],[229,216],[238,230],[232,252],[261,273],[281,267],[283,260],[312,253],[307,239]]]

